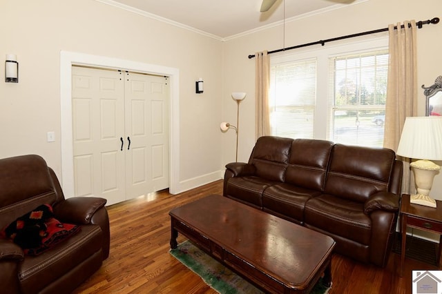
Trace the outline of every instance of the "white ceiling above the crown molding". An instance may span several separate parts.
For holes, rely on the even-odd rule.
[[[262,0],[97,0],[197,30],[218,39],[368,0],[277,0],[260,12]]]

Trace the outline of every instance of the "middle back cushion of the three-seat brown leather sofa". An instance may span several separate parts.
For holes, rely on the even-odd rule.
[[[323,191],[332,147],[332,141],[295,139],[291,144],[285,182]]]

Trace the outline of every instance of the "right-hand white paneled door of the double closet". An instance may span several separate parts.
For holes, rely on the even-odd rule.
[[[128,199],[169,187],[169,88],[166,77],[125,73]]]

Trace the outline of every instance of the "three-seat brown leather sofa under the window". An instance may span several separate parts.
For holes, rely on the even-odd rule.
[[[260,137],[247,164],[226,168],[224,196],[333,237],[337,253],[386,265],[403,173],[394,151]]]

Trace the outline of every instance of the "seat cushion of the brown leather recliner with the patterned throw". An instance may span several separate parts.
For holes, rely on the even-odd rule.
[[[35,293],[68,273],[88,257],[101,251],[102,230],[98,225],[81,226],[81,231],[63,243],[36,256],[23,259],[19,280],[23,293]]]

